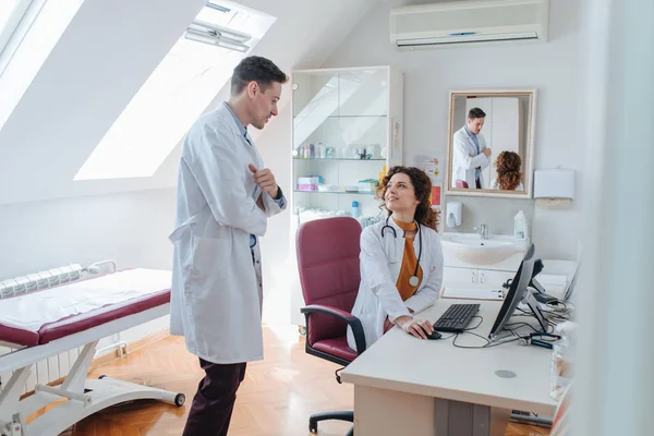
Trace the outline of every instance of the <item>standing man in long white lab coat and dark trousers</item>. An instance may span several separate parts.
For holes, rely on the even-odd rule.
[[[205,377],[185,436],[227,435],[246,362],[263,359],[258,238],[286,198],[247,134],[277,116],[287,75],[261,57],[233,71],[231,97],[183,142],[177,194],[170,332],[183,335]]]

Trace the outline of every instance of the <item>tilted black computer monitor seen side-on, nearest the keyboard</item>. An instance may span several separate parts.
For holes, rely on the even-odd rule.
[[[535,252],[536,250],[534,244],[530,244],[524,257],[522,258],[522,262],[520,263],[520,267],[516,272],[516,277],[511,281],[509,292],[507,293],[497,317],[495,318],[495,324],[493,324],[493,328],[488,334],[488,339],[495,340],[498,338],[499,332],[505,329],[505,326],[511,316],[513,316],[513,312],[516,312],[516,308],[521,301],[524,301],[531,308],[543,331],[547,331],[547,322],[538,308],[538,303],[534,299],[531,291],[528,290],[533,277],[534,264],[536,262]]]

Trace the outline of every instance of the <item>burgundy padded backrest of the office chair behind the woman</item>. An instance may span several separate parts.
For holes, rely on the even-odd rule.
[[[351,312],[359,292],[361,225],[354,218],[336,217],[308,221],[296,241],[298,269],[305,304],[323,304]],[[346,335],[342,320],[311,315],[308,343]]]

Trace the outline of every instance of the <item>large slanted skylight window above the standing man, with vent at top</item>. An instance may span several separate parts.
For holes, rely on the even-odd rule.
[[[207,3],[82,166],[75,180],[152,177],[276,21]],[[203,44],[204,43],[204,44]]]

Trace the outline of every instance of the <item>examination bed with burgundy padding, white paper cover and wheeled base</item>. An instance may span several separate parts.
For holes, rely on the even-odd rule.
[[[105,376],[86,379],[100,339],[170,313],[170,271],[128,269],[0,299],[0,344],[14,349],[0,355],[0,372],[13,372],[0,390],[0,435],[59,435],[92,413],[137,399],[182,405],[183,393]],[[61,385],[37,384],[21,400],[34,364],[78,347]]]

